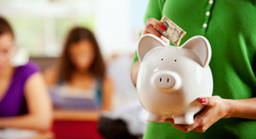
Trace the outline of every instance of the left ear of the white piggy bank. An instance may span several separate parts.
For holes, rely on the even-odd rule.
[[[156,37],[153,34],[145,34],[141,36],[141,39],[138,42],[138,50],[137,54],[139,57],[139,61],[141,62],[143,57],[146,56],[146,54],[158,46],[165,46],[168,45],[158,37]]]

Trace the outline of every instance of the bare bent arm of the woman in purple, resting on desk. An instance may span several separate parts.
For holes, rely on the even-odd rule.
[[[40,72],[25,83],[25,98],[29,113],[22,116],[0,118],[0,127],[21,128],[45,132],[52,121],[52,107],[47,86]]]

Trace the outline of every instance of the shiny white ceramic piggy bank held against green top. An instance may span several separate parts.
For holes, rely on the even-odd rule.
[[[141,36],[138,43],[141,67],[137,93],[146,120],[191,125],[203,106],[200,96],[212,95],[209,69],[211,48],[203,36],[195,36],[182,46],[170,46],[153,34]]]

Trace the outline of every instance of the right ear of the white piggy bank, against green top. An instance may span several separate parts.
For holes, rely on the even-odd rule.
[[[211,57],[211,48],[207,38],[203,36],[195,36],[189,39],[182,48],[190,49],[199,57],[199,63],[202,67],[209,65],[209,60]]]

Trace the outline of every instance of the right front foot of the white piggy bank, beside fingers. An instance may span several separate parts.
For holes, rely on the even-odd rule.
[[[175,124],[191,125],[194,123],[194,113],[186,113],[182,116],[173,117]]]

